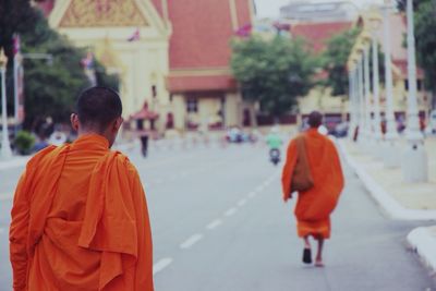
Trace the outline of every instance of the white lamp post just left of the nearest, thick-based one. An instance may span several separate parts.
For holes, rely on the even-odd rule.
[[[390,10],[392,5],[389,0],[385,0],[383,8],[383,27],[384,27],[384,53],[385,53],[385,83],[386,83],[386,134],[384,146],[384,163],[386,168],[396,168],[400,166],[399,150],[397,148],[397,122],[393,114],[393,90],[392,90],[392,60],[390,57]]]

